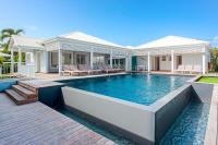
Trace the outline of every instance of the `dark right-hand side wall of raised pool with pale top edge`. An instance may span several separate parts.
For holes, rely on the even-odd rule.
[[[152,110],[155,113],[155,142],[156,144],[162,138],[169,128],[174,123],[180,113],[192,98],[192,86],[184,85],[157,100]]]

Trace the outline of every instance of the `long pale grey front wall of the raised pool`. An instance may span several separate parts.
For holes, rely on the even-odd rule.
[[[155,141],[155,113],[146,106],[72,87],[62,87],[62,94],[66,106]]]

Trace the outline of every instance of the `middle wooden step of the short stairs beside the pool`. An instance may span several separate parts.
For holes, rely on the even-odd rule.
[[[17,94],[20,94],[21,96],[23,96],[27,99],[37,97],[36,93],[34,93],[21,85],[12,85],[12,89],[14,89]]]

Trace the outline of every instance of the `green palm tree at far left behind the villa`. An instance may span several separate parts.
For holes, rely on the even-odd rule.
[[[24,33],[23,29],[4,28],[1,31],[0,40],[2,41],[3,51],[9,51],[9,44],[13,35],[20,35]]]

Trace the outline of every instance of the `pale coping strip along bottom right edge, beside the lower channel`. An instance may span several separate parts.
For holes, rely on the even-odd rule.
[[[207,130],[205,134],[205,142],[204,145],[217,145],[218,140],[218,125],[217,125],[217,119],[218,119],[218,84],[214,84],[214,90],[213,90],[213,97],[209,108],[209,117],[207,122]]]

